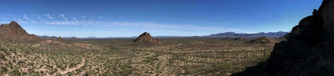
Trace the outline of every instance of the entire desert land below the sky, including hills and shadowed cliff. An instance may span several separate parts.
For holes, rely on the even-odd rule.
[[[11,21],[0,76],[333,76],[333,10],[324,0],[291,32],[206,36],[38,36]]]

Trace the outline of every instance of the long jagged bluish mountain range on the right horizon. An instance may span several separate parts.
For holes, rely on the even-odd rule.
[[[218,34],[211,34],[208,36],[234,36],[234,37],[271,37],[271,38],[278,38],[278,37],[282,37],[285,34],[287,34],[288,32],[260,32],[260,33],[252,33],[252,34],[246,34],[246,33],[234,33],[234,32],[225,32],[225,33],[218,33]]]

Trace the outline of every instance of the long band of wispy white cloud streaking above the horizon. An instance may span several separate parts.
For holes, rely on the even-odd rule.
[[[8,14],[10,15],[10,14]],[[56,20],[53,19],[53,15],[44,14],[45,18],[40,17],[39,15],[31,15],[31,17],[36,18],[28,18],[26,14],[23,15],[26,21],[18,19],[15,15],[11,15],[13,19],[18,20],[20,23],[28,24],[28,23],[38,23],[38,24],[45,24],[45,25],[81,25],[81,26],[94,26],[94,27],[118,27],[118,28],[135,28],[135,29],[159,29],[159,30],[168,30],[169,32],[176,32],[176,31],[217,31],[217,32],[225,32],[225,31],[238,31],[243,33],[255,33],[252,31],[244,31],[239,29],[232,29],[232,28],[222,28],[222,27],[210,27],[210,26],[202,26],[202,25],[190,25],[190,24],[165,24],[159,22],[149,22],[149,21],[109,21],[109,20],[102,20],[104,16],[99,16],[98,20],[85,20],[87,16],[81,15],[81,20],[77,20],[76,18],[72,17],[73,20],[68,20],[64,14],[59,15],[65,20]],[[47,20],[53,19],[53,20]],[[33,20],[37,19],[37,20]],[[157,31],[157,30],[155,30]]]

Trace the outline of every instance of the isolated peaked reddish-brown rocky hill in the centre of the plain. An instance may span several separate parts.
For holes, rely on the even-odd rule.
[[[143,34],[139,35],[137,39],[131,45],[135,46],[154,46],[161,44],[161,41],[158,38],[153,38],[150,33],[144,32]]]

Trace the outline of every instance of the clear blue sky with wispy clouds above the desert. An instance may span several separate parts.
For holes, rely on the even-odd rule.
[[[0,0],[0,23],[68,37],[288,32],[322,0]]]

